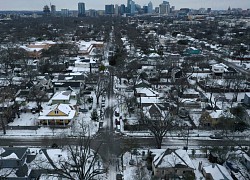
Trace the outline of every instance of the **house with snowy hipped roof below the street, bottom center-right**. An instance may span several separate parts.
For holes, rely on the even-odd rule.
[[[194,177],[195,167],[185,150],[164,150],[153,153],[153,174],[161,179],[177,179],[178,177]]]

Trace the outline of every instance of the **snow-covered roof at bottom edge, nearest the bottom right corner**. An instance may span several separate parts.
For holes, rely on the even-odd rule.
[[[210,174],[213,179],[233,180],[227,169],[219,164],[213,164],[207,167],[203,167],[203,170],[206,174]]]

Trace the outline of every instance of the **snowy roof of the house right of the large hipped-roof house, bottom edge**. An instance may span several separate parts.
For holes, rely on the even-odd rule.
[[[233,180],[224,166],[215,163],[203,167],[202,173],[206,180]]]

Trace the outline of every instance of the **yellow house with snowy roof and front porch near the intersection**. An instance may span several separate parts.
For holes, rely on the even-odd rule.
[[[38,117],[38,123],[45,126],[68,126],[76,117],[77,111],[69,104],[54,104],[43,109]]]

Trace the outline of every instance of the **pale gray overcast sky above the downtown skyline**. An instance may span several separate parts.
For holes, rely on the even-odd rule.
[[[150,0],[134,0],[141,6],[147,5]],[[159,6],[162,0],[151,0],[153,6]],[[250,8],[250,0],[168,0],[176,9],[189,7],[198,9],[200,7],[212,9]],[[0,0],[0,10],[42,10],[44,5],[54,4],[57,11],[67,8],[77,9],[77,3],[84,2],[86,9],[104,9],[105,4],[127,4],[127,0]]]

